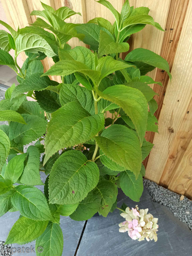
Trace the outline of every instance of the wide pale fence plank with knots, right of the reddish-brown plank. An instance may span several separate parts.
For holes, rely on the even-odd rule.
[[[154,136],[155,148],[152,149],[147,168],[146,178],[159,183],[160,178],[169,158],[170,152],[174,152],[172,146],[178,138],[180,127],[186,117],[191,101],[192,83],[192,0],[189,1],[176,56],[172,67],[172,82],[168,83],[162,110],[159,118],[159,134]],[[179,101],[178,101],[179,100]],[[192,133],[192,126],[188,131],[188,138]],[[176,143],[176,142],[175,142]],[[181,160],[182,161],[182,160]],[[172,172],[172,168],[171,168]],[[172,174],[170,174],[172,176]]]

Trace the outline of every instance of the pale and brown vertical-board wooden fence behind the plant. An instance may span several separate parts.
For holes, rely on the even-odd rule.
[[[32,10],[42,10],[39,0],[1,0],[9,24],[17,29],[35,21]],[[82,16],[75,15],[69,22],[85,23],[95,17],[114,22],[107,8],[94,0],[42,0],[57,9],[68,6]],[[120,12],[124,0],[109,0]],[[150,8],[150,15],[166,30],[162,32],[146,25],[130,40],[131,50],[143,47],[165,58],[172,73],[172,82],[163,70],[154,70],[150,76],[163,83],[163,88],[152,85],[158,92],[156,117],[159,134],[146,133],[146,140],[154,143],[145,160],[146,178],[192,198],[192,0],[130,0],[135,7]],[[70,40],[72,47],[84,45],[77,38]],[[124,54],[125,55],[125,54]],[[25,58],[23,56],[23,58]],[[53,62],[43,61],[45,69]],[[54,78],[58,80],[58,78]],[[148,161],[148,162],[147,162]]]

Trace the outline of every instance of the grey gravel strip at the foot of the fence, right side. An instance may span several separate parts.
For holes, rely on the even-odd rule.
[[[181,195],[163,188],[150,180],[143,179],[143,182],[153,201],[167,206],[174,216],[186,223],[192,231],[192,201],[186,197],[180,200]]]

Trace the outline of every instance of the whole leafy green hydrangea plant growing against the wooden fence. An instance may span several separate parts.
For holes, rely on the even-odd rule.
[[[139,201],[142,161],[153,146],[144,135],[158,132],[156,93],[149,84],[162,86],[146,73],[157,67],[171,77],[166,60],[150,50],[137,48],[121,58],[131,34],[146,24],[164,31],[149,9],[130,7],[126,0],[119,13],[106,0],[98,3],[113,13],[114,24],[104,18],[66,23],[81,14],[43,3],[43,11],[31,13],[42,18],[31,26],[15,31],[0,21],[9,30],[0,30],[0,64],[12,68],[19,82],[0,102],[0,120],[9,124],[0,126],[0,216],[20,211],[5,243],[36,240],[36,248],[44,248],[41,255],[62,254],[60,216],[107,217],[117,206],[117,188]],[[67,42],[73,37],[89,48],[71,49]],[[20,67],[22,52],[27,58]],[[44,73],[46,57],[55,64]],[[40,172],[48,175],[45,184]],[[36,185],[44,185],[44,193]]]

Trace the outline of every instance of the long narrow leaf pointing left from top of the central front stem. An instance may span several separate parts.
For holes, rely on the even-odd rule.
[[[83,73],[89,76],[92,80],[97,80],[100,76],[100,72],[96,70],[90,70],[85,64],[75,60],[62,60],[56,62],[51,68],[42,76],[67,76],[75,72]]]

